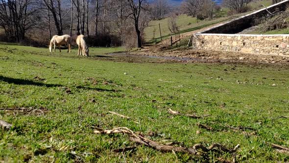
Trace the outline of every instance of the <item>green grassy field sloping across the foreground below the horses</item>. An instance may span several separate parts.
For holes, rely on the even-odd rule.
[[[287,67],[103,60],[109,57],[104,53],[118,51],[122,49],[91,48],[91,57],[78,57],[76,50],[49,54],[48,49],[1,44],[0,108],[43,112],[0,110],[0,119],[14,126],[0,129],[0,161],[168,163],[233,158],[224,152],[174,155],[142,145],[115,152],[136,144],[124,135],[96,135],[96,127],[128,127],[147,138],[174,139],[186,147],[240,144],[237,161],[289,161],[288,154],[267,143],[289,147],[289,118],[274,119],[289,116]],[[211,116],[172,116],[168,109]],[[234,131],[227,125],[248,129]]]

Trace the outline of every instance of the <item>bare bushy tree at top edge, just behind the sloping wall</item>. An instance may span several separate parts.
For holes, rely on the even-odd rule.
[[[244,12],[244,8],[252,0],[223,0],[223,6],[230,9],[232,13]]]

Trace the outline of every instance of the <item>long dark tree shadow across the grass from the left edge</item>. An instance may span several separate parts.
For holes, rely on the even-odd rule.
[[[15,79],[9,77],[3,77],[0,75],[0,81],[8,82],[9,84],[18,84],[18,85],[35,85],[35,86],[43,86],[43,87],[65,87],[61,84],[47,84],[37,81],[25,80],[25,79]],[[91,88],[86,86],[76,86],[77,89],[87,89],[87,90],[96,90],[99,92],[119,92],[116,89],[103,89],[103,88]]]

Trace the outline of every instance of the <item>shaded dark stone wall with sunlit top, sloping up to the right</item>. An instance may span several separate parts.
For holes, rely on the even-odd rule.
[[[268,14],[268,11],[271,13],[275,11],[280,12],[285,11],[288,7],[289,7],[289,0],[284,0],[280,3],[271,5],[267,8],[263,8],[259,11],[247,14],[245,16],[233,19],[224,24],[207,29],[202,33],[227,33],[227,34],[239,33],[246,28],[252,27],[253,25],[252,22],[254,22],[254,19],[263,18]]]

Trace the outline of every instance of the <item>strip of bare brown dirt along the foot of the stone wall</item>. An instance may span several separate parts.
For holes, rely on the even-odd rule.
[[[115,55],[130,55],[130,56],[146,56],[148,58],[158,58],[175,60],[188,63],[257,63],[257,64],[289,64],[289,56],[279,55],[254,55],[242,54],[236,52],[209,51],[209,50],[194,50],[191,48],[179,49],[144,49],[139,52],[131,52],[127,54]]]

